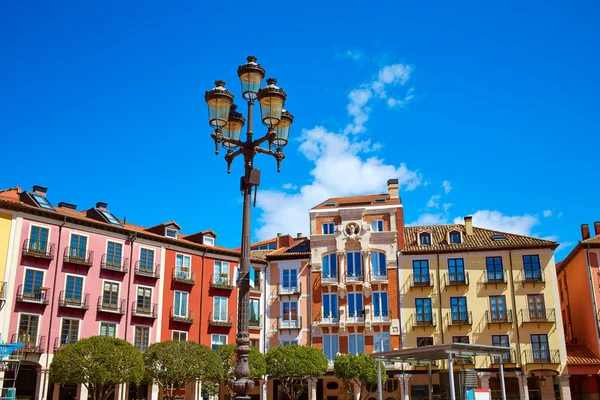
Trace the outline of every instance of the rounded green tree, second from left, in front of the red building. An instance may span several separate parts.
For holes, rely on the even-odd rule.
[[[144,365],[148,378],[168,399],[196,379],[218,380],[221,376],[217,354],[194,342],[154,343],[144,352]]]

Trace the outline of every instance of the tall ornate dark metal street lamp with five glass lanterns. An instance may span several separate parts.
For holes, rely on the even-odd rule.
[[[219,144],[227,149],[227,173],[231,172],[231,163],[242,155],[244,157],[244,176],[241,179],[240,190],[244,195],[244,211],[242,217],[242,253],[240,258],[239,275],[239,304],[238,329],[236,338],[235,380],[229,382],[235,393],[234,399],[250,399],[248,392],[254,386],[254,381],[248,379],[250,367],[250,335],[248,334],[250,308],[250,202],[252,188],[260,185],[260,171],[253,167],[254,156],[257,153],[273,156],[277,161],[277,172],[281,160],[285,158],[283,147],[288,142],[290,126],[294,116],[283,109],[286,94],[276,86],[277,80],[267,79],[267,86],[261,88],[265,77],[265,69],[256,63],[256,57],[248,56],[248,62],[238,67],[238,76],[242,82],[242,97],[248,103],[248,124],[246,139],[240,135],[246,122],[237,106],[233,104],[233,94],[225,89],[225,82],[216,81],[216,87],[207,91],[204,99],[208,104],[208,122],[214,128],[211,137],[215,141],[215,154],[219,154]],[[254,120],[254,101],[258,100],[261,109],[261,122],[267,127],[267,132],[259,139],[254,139],[252,123]],[[263,147],[267,143],[269,148]],[[275,146],[275,151],[273,151]]]

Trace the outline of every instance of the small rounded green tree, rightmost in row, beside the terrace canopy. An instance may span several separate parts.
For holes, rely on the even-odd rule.
[[[356,397],[355,387],[358,387],[360,400],[368,398],[377,390],[377,362],[364,353],[341,354],[335,357],[333,374],[342,380],[344,391],[351,399]]]

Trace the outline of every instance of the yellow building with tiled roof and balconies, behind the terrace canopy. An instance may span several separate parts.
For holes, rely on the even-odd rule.
[[[471,217],[464,225],[405,228],[399,252],[402,347],[453,342],[511,347],[504,359],[507,399],[570,399],[557,246],[473,227]],[[456,361],[457,388],[489,387],[493,399],[501,397],[497,360]],[[449,398],[445,364],[438,363],[433,378],[434,393],[442,399]],[[427,398],[426,371],[406,368],[400,377],[404,394]]]

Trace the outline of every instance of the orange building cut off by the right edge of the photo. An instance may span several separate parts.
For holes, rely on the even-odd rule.
[[[600,222],[556,265],[573,399],[600,398]]]

